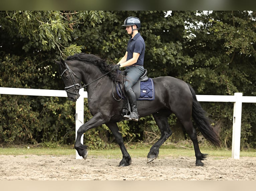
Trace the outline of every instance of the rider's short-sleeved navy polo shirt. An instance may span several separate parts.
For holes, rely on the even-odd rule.
[[[127,49],[128,52],[127,60],[130,60],[133,57],[133,53],[139,53],[140,56],[138,58],[137,63],[134,65],[141,65],[143,66],[144,63],[144,55],[145,55],[145,42],[140,33],[137,33],[133,39],[130,38],[130,40],[127,43]]]

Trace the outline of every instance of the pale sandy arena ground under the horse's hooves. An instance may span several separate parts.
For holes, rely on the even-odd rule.
[[[132,158],[118,167],[121,158],[88,156],[0,155],[0,180],[255,180],[256,157],[208,157],[204,167],[195,157],[163,157],[146,163]]]

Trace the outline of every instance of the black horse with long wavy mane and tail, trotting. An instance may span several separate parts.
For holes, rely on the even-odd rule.
[[[119,166],[131,164],[131,156],[126,150],[117,122],[122,119],[123,99],[117,100],[117,92],[112,89],[113,81],[120,81],[113,66],[106,60],[92,54],[75,54],[67,60],[55,61],[59,73],[66,86],[65,90],[69,100],[79,98],[79,89],[86,87],[88,93],[88,106],[93,117],[84,123],[77,132],[75,148],[79,155],[87,158],[87,146],[81,144],[81,136],[89,129],[106,124],[112,131],[120,146],[123,158]],[[82,86],[81,82],[85,85]],[[168,117],[174,113],[183,125],[185,131],[193,141],[196,165],[203,166],[207,154],[201,153],[198,145],[197,132],[191,121],[193,117],[198,129],[214,146],[220,146],[219,135],[211,126],[201,104],[197,101],[195,91],[182,80],[165,76],[153,79],[155,88],[154,100],[138,100],[137,107],[140,117],[152,114],[161,132],[160,139],[154,143],[147,155],[147,162],[154,160],[159,153],[160,146],[171,136],[172,131],[168,125]]]

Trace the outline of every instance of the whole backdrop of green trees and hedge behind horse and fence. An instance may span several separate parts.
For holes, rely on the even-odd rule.
[[[117,63],[129,40],[128,16],[142,22],[149,77],[173,76],[197,94],[256,95],[255,11],[0,11],[1,87],[63,90],[54,59],[86,52]],[[232,143],[233,103],[202,103],[218,126],[223,147]],[[74,144],[75,103],[67,98],[0,95],[0,143]],[[92,116],[85,104],[85,120]],[[256,107],[243,103],[241,146],[256,146]],[[173,132],[176,118],[169,124]],[[125,142],[154,142],[152,116],[122,121]],[[151,134],[150,134],[150,133]],[[170,138],[172,139],[172,138]],[[169,140],[171,141],[171,140]],[[102,125],[85,133],[91,148],[112,147]],[[54,143],[54,144],[53,144]],[[52,145],[51,145],[52,144]]]

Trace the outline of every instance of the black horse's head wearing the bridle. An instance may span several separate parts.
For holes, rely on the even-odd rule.
[[[55,62],[59,67],[59,74],[65,84],[65,90],[69,100],[76,101],[80,97],[79,90],[81,88],[82,75],[78,71],[78,68],[72,67],[69,64],[72,61],[60,59],[60,62]]]

